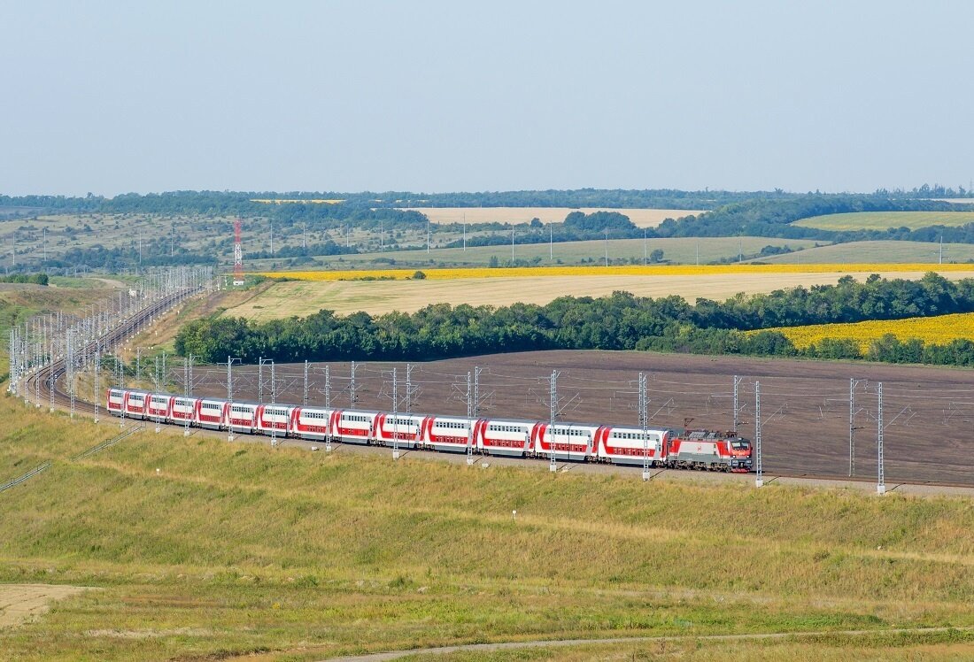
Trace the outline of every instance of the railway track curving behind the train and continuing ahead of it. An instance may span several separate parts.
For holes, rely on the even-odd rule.
[[[153,317],[166,313],[175,304],[180,301],[179,294],[173,294],[162,299],[152,306],[144,309],[143,311],[132,315],[130,319],[126,320],[120,326],[115,327],[109,331],[102,338],[102,346],[113,347],[120,344],[125,338],[130,336],[136,329],[138,329],[147,319],[152,319]],[[91,348],[91,345],[89,346]],[[47,400],[50,402],[51,393],[51,381],[54,380],[54,403],[56,407],[67,408],[70,407],[71,396],[67,393],[61,386],[61,377],[64,375],[64,359],[58,358],[52,365],[45,367],[39,372],[35,373],[29,377],[24,385],[25,391],[30,393],[32,390],[40,387],[42,393],[47,395]],[[40,382],[39,385],[36,383]],[[103,408],[102,408],[103,409]],[[75,397],[75,411],[82,412],[86,414],[94,415],[94,404],[83,400],[81,398]],[[253,435],[260,436],[260,435]],[[546,461],[546,460],[545,460]],[[803,481],[829,481],[829,482],[842,482],[842,483],[857,483],[864,485],[873,485],[876,483],[875,478],[865,478],[861,476],[844,476],[844,475],[831,475],[831,474],[819,474],[819,473],[799,473],[799,472],[780,472],[766,469],[765,470],[766,481],[768,484],[777,480],[779,478],[790,478],[799,479]],[[919,486],[919,487],[931,487],[931,488],[961,488],[961,489],[971,489],[972,486],[969,483],[956,483],[956,482],[942,482],[942,481],[919,481],[919,480],[892,480],[887,479],[887,483],[890,486]]]

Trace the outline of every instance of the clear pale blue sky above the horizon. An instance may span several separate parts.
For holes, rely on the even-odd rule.
[[[974,177],[974,3],[0,0],[0,194]]]

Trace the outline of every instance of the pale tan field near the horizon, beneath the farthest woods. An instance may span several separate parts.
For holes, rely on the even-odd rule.
[[[618,211],[638,228],[655,228],[667,218],[681,218],[702,211],[695,209],[613,209],[610,207],[403,207],[427,215],[431,223],[561,223],[573,211]]]

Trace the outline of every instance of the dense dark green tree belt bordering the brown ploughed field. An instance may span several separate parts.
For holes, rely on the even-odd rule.
[[[824,341],[797,349],[773,326],[897,319],[974,312],[974,279],[936,274],[918,281],[843,276],[836,285],[737,295],[725,302],[679,296],[560,297],[544,306],[494,308],[434,304],[417,313],[336,315],[266,322],[210,316],[183,326],[175,340],[182,355],[207,362],[238,356],[245,362],[433,360],[534,349],[646,349],[816,358],[867,358],[974,365],[974,343],[924,346],[885,338],[862,354],[854,344]],[[755,331],[757,333],[747,333]]]

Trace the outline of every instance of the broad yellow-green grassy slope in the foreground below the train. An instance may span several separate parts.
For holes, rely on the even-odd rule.
[[[0,475],[54,460],[0,496],[0,579],[103,588],[0,632],[16,659],[974,624],[968,500],[393,464],[168,431],[73,462],[118,428],[9,398],[0,415]],[[752,645],[767,647],[738,648]]]

